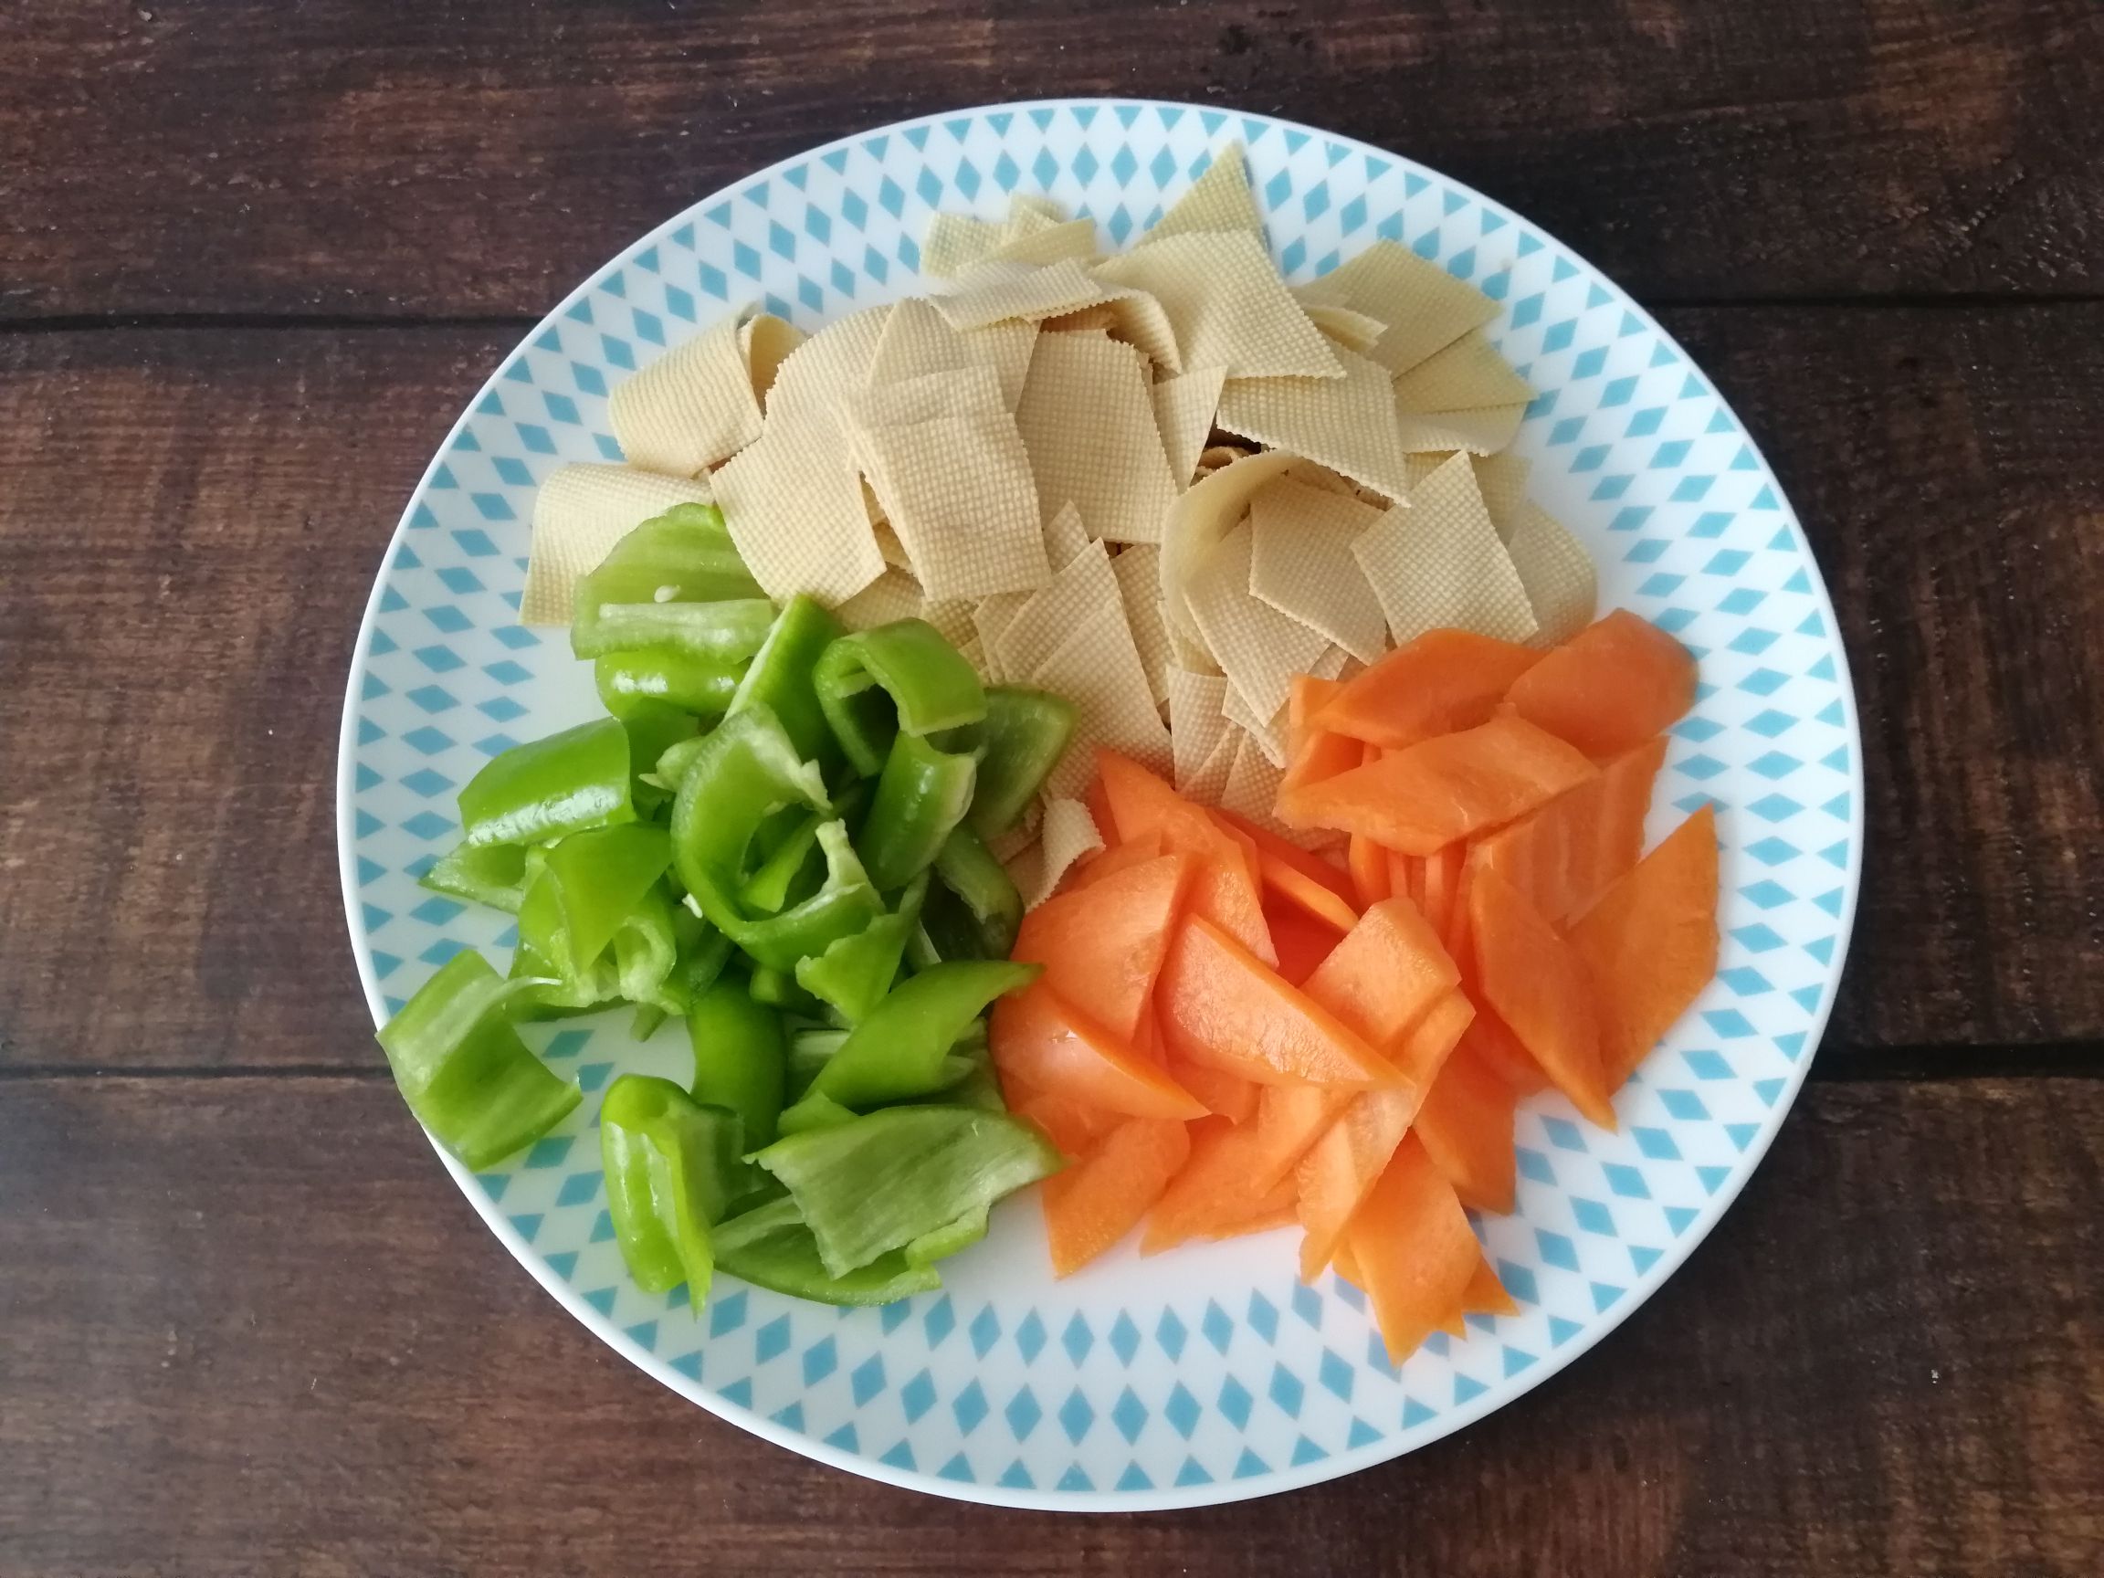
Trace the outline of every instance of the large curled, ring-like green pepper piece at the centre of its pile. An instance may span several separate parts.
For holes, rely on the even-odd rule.
[[[827,810],[825,783],[816,764],[797,757],[774,713],[755,705],[703,741],[671,812],[673,861],[701,913],[774,970],[795,970],[797,959],[825,953],[833,938],[884,913],[837,821],[818,829],[825,854],[818,892],[778,915],[747,911],[739,898],[745,850],[768,816],[795,804]]]

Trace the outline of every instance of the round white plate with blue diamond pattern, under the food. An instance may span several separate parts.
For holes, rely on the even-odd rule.
[[[595,711],[589,665],[513,621],[537,482],[621,454],[608,389],[751,299],[818,328],[922,290],[917,238],[938,208],[997,217],[1010,191],[1041,191],[1124,246],[1235,141],[1292,280],[1387,236],[1502,303],[1490,332],[1542,391],[1517,440],[1534,497],[1593,551],[1603,604],[1700,659],[1652,835],[1719,806],[1721,970],[1616,1100],[1618,1134],[1557,1096],[1521,1109],[1519,1208],[1477,1225],[1519,1313],[1471,1317],[1466,1340],[1433,1336],[1401,1368],[1357,1290],[1294,1279],[1290,1231],[1153,1260],[1128,1246],[1054,1281],[1033,1199],[945,1265],[945,1292],[835,1311],[722,1277],[696,1317],[684,1290],[623,1275],[591,1132],[616,1071],[686,1077],[684,1037],[635,1046],[625,1014],[528,1027],[587,1100],[492,1172],[448,1159],[520,1265],[713,1414],[943,1496],[1197,1506],[1344,1475],[1513,1401],[1641,1304],[1738,1195],[1847,949],[1862,753],[1833,608],[1776,478],[1687,353],[1525,219],[1395,154],[1262,116],[1048,101],[848,137],[703,198],[579,286],[476,396],[396,528],[349,675],[339,839],[375,1020],[457,949],[501,964],[511,943],[503,915],[417,875],[490,753]]]

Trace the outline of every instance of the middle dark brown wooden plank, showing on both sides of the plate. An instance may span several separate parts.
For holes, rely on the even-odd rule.
[[[2104,1039],[2104,307],[1683,309],[1818,545],[1873,867],[1830,1044]],[[372,1056],[343,671],[509,330],[0,335],[0,1063]]]

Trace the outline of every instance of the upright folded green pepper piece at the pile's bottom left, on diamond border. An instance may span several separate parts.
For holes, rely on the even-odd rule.
[[[701,1107],[671,1079],[625,1073],[600,1105],[606,1214],[621,1258],[646,1294],[686,1283],[696,1313],[715,1254],[709,1229],[739,1189],[739,1117]]]

